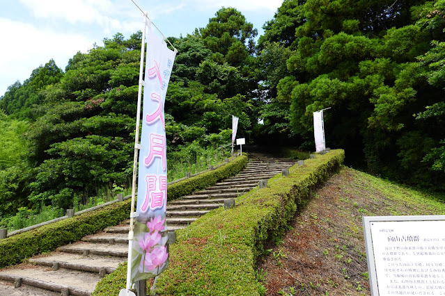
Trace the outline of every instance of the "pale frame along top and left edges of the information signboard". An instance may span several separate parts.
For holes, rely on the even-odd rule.
[[[373,222],[424,222],[424,221],[445,221],[445,215],[417,215],[417,216],[363,216],[366,260],[368,261],[368,275],[371,295],[379,295],[377,282],[377,268],[375,265],[375,254],[373,236],[371,234],[371,223]],[[378,242],[377,242],[378,243]]]

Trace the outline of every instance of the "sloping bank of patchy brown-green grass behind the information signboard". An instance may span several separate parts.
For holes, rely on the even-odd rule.
[[[266,295],[370,295],[361,217],[444,213],[437,196],[343,167],[258,259]]]

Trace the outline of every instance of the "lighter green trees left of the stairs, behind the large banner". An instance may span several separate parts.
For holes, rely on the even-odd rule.
[[[50,60],[8,88],[0,99],[1,216],[70,208],[129,185],[141,36],[117,33],[78,52],[65,72]],[[240,117],[238,135],[249,136],[255,36],[239,11],[221,8],[205,28],[171,38],[179,52],[165,104],[171,168],[186,163],[192,171],[228,156],[232,115]]]

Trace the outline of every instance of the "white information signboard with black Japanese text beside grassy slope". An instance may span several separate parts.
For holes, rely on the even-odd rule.
[[[372,295],[445,295],[445,216],[363,217]]]

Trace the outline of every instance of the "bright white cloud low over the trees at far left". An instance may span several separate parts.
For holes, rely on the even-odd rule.
[[[86,52],[94,40],[81,35],[45,31],[23,22],[0,17],[0,39],[8,46],[0,47],[0,95],[9,85],[28,79],[33,69],[54,59],[62,69],[77,51]]]

